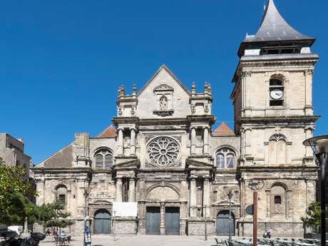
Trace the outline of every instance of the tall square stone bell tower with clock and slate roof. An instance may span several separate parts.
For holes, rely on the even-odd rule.
[[[244,235],[252,233],[252,216],[245,213],[252,204],[251,180],[264,183],[259,190],[259,233],[265,228],[274,235],[275,230],[280,235],[303,232],[299,218],[315,200],[317,169],[312,151],[302,145],[319,118],[312,107],[312,75],[319,59],[311,51],[314,41],[289,26],[269,0],[260,29],[240,44],[231,97],[241,138]]]

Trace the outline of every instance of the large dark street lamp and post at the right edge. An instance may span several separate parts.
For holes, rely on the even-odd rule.
[[[326,245],[326,207],[324,194],[325,169],[328,164],[328,135],[321,135],[309,138],[303,142],[303,145],[310,146],[314,155],[317,157],[320,170],[320,205],[321,205],[321,245]]]

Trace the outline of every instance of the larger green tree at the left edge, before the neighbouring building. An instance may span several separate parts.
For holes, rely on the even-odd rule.
[[[22,224],[26,217],[35,222],[37,207],[29,198],[36,196],[22,166],[4,165],[0,158],[0,221]]]

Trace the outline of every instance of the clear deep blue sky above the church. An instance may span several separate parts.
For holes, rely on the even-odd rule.
[[[212,84],[217,123],[233,125],[230,93],[237,48],[255,34],[263,0],[2,1],[0,132],[24,138],[39,163],[71,143],[96,136],[116,114],[118,86],[130,92],[165,63],[190,88]],[[328,2],[275,0],[287,22],[314,36],[314,108],[328,133]]]

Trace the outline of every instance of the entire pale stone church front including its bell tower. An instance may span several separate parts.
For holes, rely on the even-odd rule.
[[[246,36],[232,82],[235,130],[212,130],[212,90],[190,88],[161,66],[145,86],[118,91],[117,114],[97,137],[75,140],[34,168],[36,203],[59,200],[83,231],[84,185],[93,233],[252,235],[250,183],[258,190],[258,233],[302,237],[300,217],[316,199],[317,166],[302,145],[312,136],[314,39],[292,29],[268,1],[257,34]],[[115,217],[135,202],[137,217]]]

